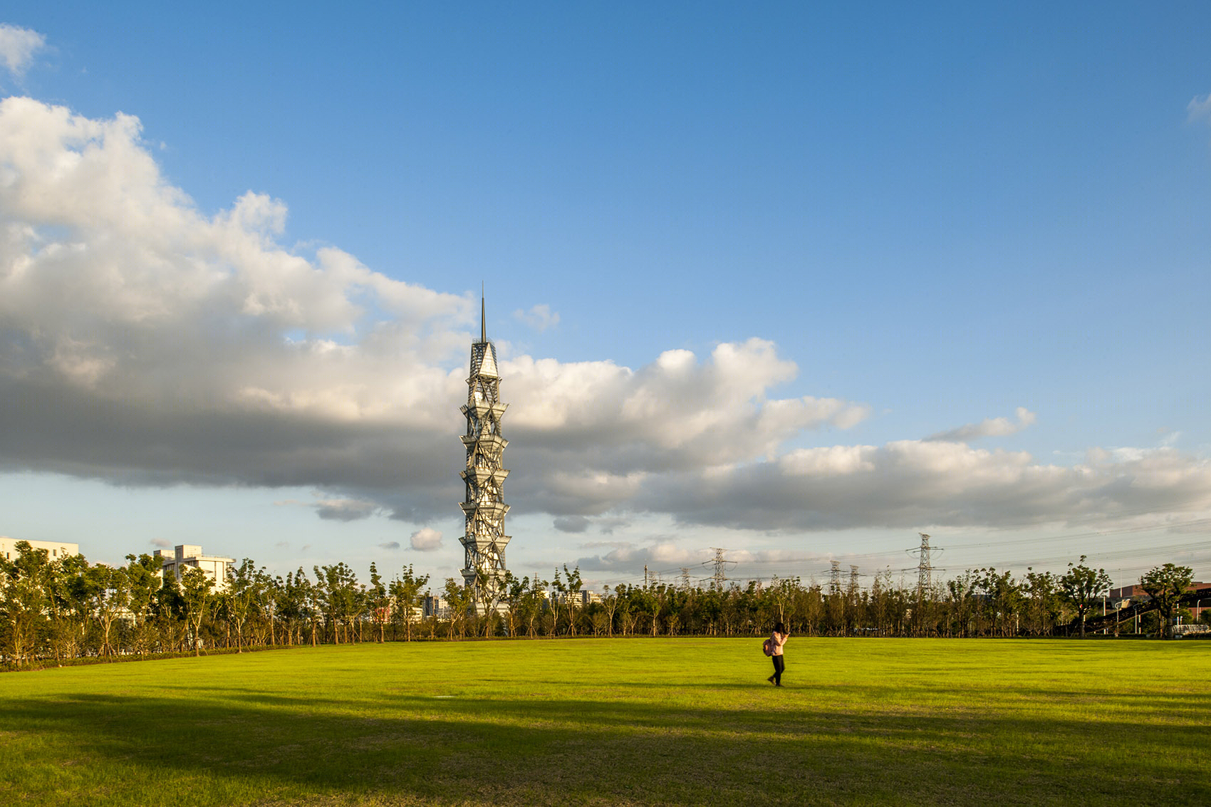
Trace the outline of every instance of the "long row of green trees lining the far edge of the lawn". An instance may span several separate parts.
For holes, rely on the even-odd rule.
[[[216,591],[205,572],[184,568],[161,578],[160,561],[127,555],[120,567],[82,556],[51,560],[19,542],[17,557],[0,559],[0,662],[7,666],[64,663],[80,657],[200,653],[206,648],[411,641],[465,636],[750,636],[784,622],[800,635],[821,636],[1045,636],[1085,619],[1109,591],[1104,570],[1081,556],[1063,574],[1027,570],[1016,578],[994,568],[968,570],[920,589],[890,571],[868,588],[774,578],[718,588],[688,584],[604,588],[584,602],[579,568],[551,580],[505,580],[498,609],[476,601],[486,586],[447,579],[441,612],[423,612],[427,574],[412,566],[385,579],[372,563],[369,584],[345,563],[270,576],[245,559]],[[1192,570],[1165,563],[1141,584],[1158,603],[1155,631],[1180,613],[1177,600]],[[1206,614],[1205,614],[1206,616]],[[1115,629],[1117,630],[1117,629]]]

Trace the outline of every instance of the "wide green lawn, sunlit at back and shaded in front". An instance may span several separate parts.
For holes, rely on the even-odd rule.
[[[0,675],[5,805],[1193,803],[1211,642],[303,648]]]

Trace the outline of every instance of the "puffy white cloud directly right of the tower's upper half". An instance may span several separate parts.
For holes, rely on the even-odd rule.
[[[515,490],[557,515],[599,515],[648,474],[773,457],[805,429],[848,428],[869,412],[838,399],[770,399],[798,368],[764,339],[719,344],[706,361],[668,350],[638,371],[530,356],[503,367],[501,389],[520,400],[506,425],[527,446],[511,460]]]

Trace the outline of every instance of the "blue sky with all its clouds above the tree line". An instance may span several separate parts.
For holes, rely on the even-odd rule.
[[[0,22],[0,534],[454,576],[482,280],[520,573],[1211,574],[1201,5]]]

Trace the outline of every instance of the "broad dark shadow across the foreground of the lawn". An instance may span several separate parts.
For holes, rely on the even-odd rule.
[[[718,691],[719,687],[713,686]],[[751,687],[745,687],[751,691]],[[1077,693],[1074,693],[1077,694]],[[1084,693],[1079,693],[1084,694]],[[1096,693],[1090,693],[1096,694]],[[1147,792],[1153,803],[1211,796],[1196,754],[1203,726],[1170,698],[1132,697],[1155,722],[1068,717],[665,706],[589,699],[375,702],[208,688],[213,700],[70,696],[0,703],[5,779],[19,796],[38,766],[78,755],[93,769],[144,769],[183,805],[223,803],[239,780],[252,801],[297,803],[1087,803]],[[1117,700],[1121,696],[1117,696]],[[1200,698],[1206,709],[1206,698]],[[1205,711],[1203,714],[1206,714]],[[36,742],[34,739],[36,738]],[[24,744],[23,744],[24,743]],[[52,760],[47,760],[47,754]],[[28,775],[22,784],[22,773]],[[22,788],[30,790],[22,792]],[[2,795],[2,794],[0,794]],[[210,800],[208,800],[210,799]],[[85,800],[87,801],[87,800]],[[124,803],[113,794],[105,803]]]

